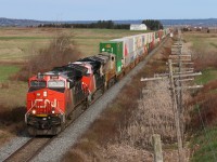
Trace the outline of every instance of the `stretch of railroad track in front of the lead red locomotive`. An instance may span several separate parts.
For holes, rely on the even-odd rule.
[[[53,137],[33,137],[25,145],[4,160],[4,162],[28,162],[34,159],[42,148],[52,141]]]

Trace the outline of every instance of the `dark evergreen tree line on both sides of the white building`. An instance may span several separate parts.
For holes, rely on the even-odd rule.
[[[150,30],[163,29],[159,21],[142,21]],[[130,24],[115,24],[113,21],[98,21],[90,24],[40,24],[38,27],[56,27],[56,28],[100,28],[100,29],[129,29]]]

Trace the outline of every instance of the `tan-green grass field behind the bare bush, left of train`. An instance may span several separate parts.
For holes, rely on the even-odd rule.
[[[60,33],[67,33],[84,56],[99,51],[99,42],[141,33],[141,31],[113,29],[59,29],[59,28],[0,28],[0,63],[22,63],[35,51],[48,46]]]

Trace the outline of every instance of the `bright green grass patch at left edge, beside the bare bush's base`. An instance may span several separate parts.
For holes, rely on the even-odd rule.
[[[16,73],[20,67],[13,65],[0,65],[0,82],[9,80],[9,77]]]

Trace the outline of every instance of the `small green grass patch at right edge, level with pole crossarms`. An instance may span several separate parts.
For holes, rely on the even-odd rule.
[[[202,70],[202,75],[195,78],[195,83],[206,84],[213,80],[217,80],[217,69],[207,68],[207,69]]]

